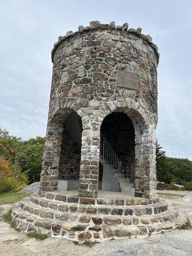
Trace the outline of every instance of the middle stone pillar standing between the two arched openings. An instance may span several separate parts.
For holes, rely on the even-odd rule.
[[[92,110],[90,110],[92,113]],[[83,116],[79,196],[97,198],[99,180],[100,125],[97,116]]]

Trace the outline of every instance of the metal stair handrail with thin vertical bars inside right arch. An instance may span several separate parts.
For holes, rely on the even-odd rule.
[[[103,136],[103,134],[100,134],[100,157],[102,158],[102,161],[108,165],[109,170],[111,170],[120,186],[122,161],[120,161],[115,150],[111,147],[109,141]],[[124,172],[124,168],[122,168],[122,170]]]

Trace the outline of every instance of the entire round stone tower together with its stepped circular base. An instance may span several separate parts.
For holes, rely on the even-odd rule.
[[[141,29],[90,22],[52,50],[39,193],[15,227],[84,243],[178,227],[156,198],[157,46]]]

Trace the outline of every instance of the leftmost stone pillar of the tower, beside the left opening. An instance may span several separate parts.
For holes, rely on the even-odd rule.
[[[63,122],[57,121],[47,125],[40,179],[40,196],[44,196],[47,191],[57,190],[62,134]]]

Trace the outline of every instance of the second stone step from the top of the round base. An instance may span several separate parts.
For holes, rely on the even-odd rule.
[[[40,196],[37,200],[36,196],[31,196],[31,202],[23,200],[22,202],[20,202],[20,207],[24,209],[26,205],[28,206],[30,204],[30,213],[34,213],[33,208],[40,208],[42,210],[45,208],[49,209],[49,211],[60,211],[67,214],[68,212],[86,212],[86,214],[107,214],[113,216],[142,216],[158,214],[159,212],[164,212],[168,209],[168,205],[164,204],[164,202],[160,202],[159,204],[155,205],[124,205],[124,200],[118,199],[115,203],[115,205],[71,204],[56,200],[48,200]],[[35,209],[35,211],[38,210]]]

